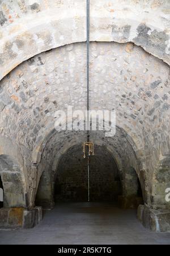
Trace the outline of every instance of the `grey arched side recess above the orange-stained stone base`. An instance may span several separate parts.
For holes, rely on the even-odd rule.
[[[26,207],[23,174],[12,156],[0,155],[0,174],[4,191],[4,207]]]

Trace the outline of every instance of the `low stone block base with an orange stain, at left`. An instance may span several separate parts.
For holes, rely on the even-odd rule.
[[[33,228],[42,220],[42,208],[1,208],[0,228]]]

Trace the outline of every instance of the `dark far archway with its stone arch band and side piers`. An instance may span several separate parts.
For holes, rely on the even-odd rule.
[[[95,145],[95,155],[90,156],[90,201],[111,201],[122,208],[137,208],[143,203],[145,188],[142,187],[142,192],[141,181],[142,184],[144,181],[135,171],[139,168],[138,161],[125,133],[117,127],[117,133],[112,139],[103,137],[103,132],[99,131],[91,136],[95,137],[95,134],[102,143]],[[74,131],[69,133],[70,138],[73,135]],[[55,201],[88,201],[87,158],[83,158],[83,146],[79,144],[80,141],[83,143],[84,133],[76,137],[78,144],[75,146],[70,146],[75,143],[74,137],[70,143],[59,143],[58,136],[62,137],[63,133],[54,131],[42,152],[40,163],[43,171],[35,203],[45,209],[52,209]],[[107,143],[111,140],[113,144],[110,143],[108,147]]]

